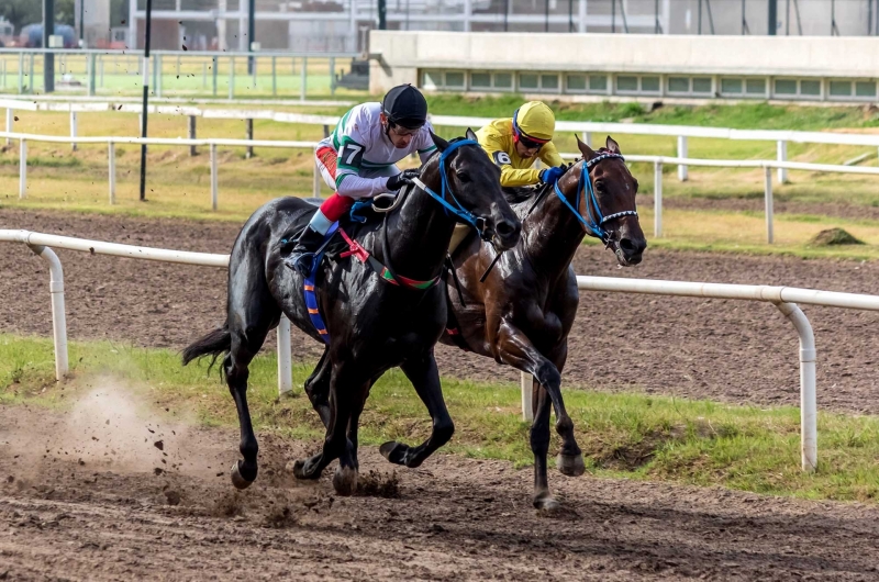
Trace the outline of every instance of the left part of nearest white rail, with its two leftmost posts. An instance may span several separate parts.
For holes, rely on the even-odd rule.
[[[58,256],[49,247],[80,250],[94,255],[110,255],[131,259],[199,265],[204,267],[229,267],[229,255],[211,253],[190,253],[164,248],[138,247],[33,233],[30,231],[0,230],[0,242],[23,243],[40,255],[49,266],[49,292],[52,295],[52,327],[55,346],[55,378],[62,380],[69,371],[67,356],[67,317],[64,302],[64,271]],[[278,392],[283,394],[293,389],[292,359],[290,342],[290,321],[281,316],[278,335]]]

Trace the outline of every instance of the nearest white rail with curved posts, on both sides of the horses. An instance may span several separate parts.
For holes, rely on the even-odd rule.
[[[23,243],[49,264],[49,292],[52,295],[52,318],[55,340],[55,377],[58,380],[62,380],[68,372],[64,273],[58,257],[49,247],[183,265],[223,268],[229,265],[229,255],[137,247],[32,233],[29,231],[0,230],[0,242]],[[797,303],[879,311],[879,296],[877,295],[839,293],[792,287],[653,281],[647,279],[617,279],[607,277],[578,277],[577,286],[579,289],[588,291],[735,299],[763,301],[775,304],[779,311],[791,321],[800,338],[801,463],[802,469],[805,471],[812,471],[817,467],[816,355],[812,326]],[[285,393],[292,390],[290,322],[286,317],[281,317],[277,335],[278,390],[280,393]],[[522,374],[522,410],[526,419],[533,417],[533,412],[531,410],[531,378],[525,377],[525,374]]]

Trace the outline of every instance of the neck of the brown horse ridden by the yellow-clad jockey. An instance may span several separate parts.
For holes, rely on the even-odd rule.
[[[522,244],[534,268],[552,281],[567,271],[586,230],[554,190],[545,195],[546,199],[522,225]],[[566,197],[576,208],[576,193]]]

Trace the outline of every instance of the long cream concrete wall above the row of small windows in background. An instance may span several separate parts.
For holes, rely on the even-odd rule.
[[[369,43],[375,93],[418,83],[420,68],[879,77],[879,37],[372,31]]]

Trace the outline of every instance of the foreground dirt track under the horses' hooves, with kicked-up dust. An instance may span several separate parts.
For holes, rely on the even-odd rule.
[[[394,478],[375,449],[361,474],[389,496],[342,499],[331,470],[313,484],[282,471],[315,444],[265,437],[238,493],[234,430],[135,407],[112,385],[65,416],[0,406],[0,580],[879,577],[876,507],[556,474],[566,510],[538,515],[528,469],[438,455]]]

